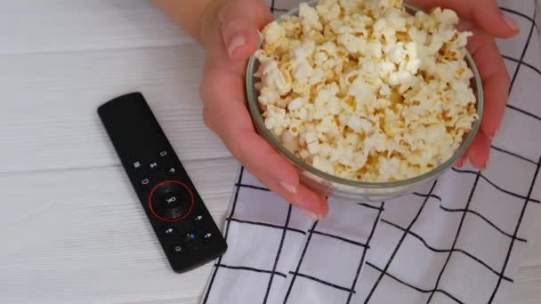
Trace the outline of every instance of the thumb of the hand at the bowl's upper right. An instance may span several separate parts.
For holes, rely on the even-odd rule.
[[[497,6],[496,0],[411,0],[424,10],[432,7],[448,8],[460,18],[479,24],[492,36],[510,37],[519,33],[517,24]]]

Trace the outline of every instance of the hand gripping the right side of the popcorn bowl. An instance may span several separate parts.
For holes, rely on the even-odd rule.
[[[480,72],[485,107],[480,132],[456,165],[462,167],[469,160],[472,166],[484,170],[489,164],[491,142],[504,116],[511,84],[494,37],[515,36],[519,28],[500,11],[496,0],[411,0],[410,3],[422,9],[436,6],[452,9],[461,18],[459,29],[473,33],[467,48]]]

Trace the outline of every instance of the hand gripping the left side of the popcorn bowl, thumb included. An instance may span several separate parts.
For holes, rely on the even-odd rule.
[[[327,215],[327,199],[306,188],[287,159],[254,130],[246,108],[246,60],[259,43],[257,29],[273,20],[263,0],[211,1],[201,17],[206,64],[200,85],[205,124],[258,180],[314,220]]]

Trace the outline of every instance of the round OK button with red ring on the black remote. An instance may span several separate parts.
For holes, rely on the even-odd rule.
[[[191,212],[193,204],[193,193],[180,181],[166,180],[150,191],[150,212],[160,220],[182,220]]]

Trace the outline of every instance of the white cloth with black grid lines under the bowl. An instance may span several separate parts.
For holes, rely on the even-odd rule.
[[[295,4],[271,2],[275,12]],[[498,42],[513,87],[489,169],[453,169],[381,204],[329,197],[315,222],[240,169],[229,250],[202,303],[508,302],[541,207],[541,45],[535,1],[500,4],[521,34]]]

